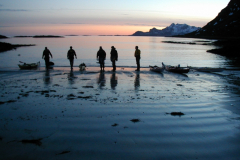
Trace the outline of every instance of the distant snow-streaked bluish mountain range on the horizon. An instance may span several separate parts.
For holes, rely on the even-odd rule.
[[[137,31],[132,36],[175,36],[175,35],[184,35],[199,29],[200,27],[189,26],[187,24],[172,23],[170,26],[162,30],[152,28],[149,30],[149,32]]]

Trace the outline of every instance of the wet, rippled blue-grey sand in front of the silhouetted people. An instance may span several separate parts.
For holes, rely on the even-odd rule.
[[[1,71],[0,159],[237,160],[239,75]]]

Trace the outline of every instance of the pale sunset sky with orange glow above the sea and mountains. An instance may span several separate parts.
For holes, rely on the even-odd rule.
[[[171,23],[203,27],[230,0],[1,0],[0,34],[130,35]]]

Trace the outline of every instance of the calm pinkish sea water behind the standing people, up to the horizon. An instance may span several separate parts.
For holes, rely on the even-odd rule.
[[[115,46],[119,54],[117,66],[135,67],[135,46],[141,50],[141,66],[167,65],[198,66],[198,67],[229,67],[225,57],[207,53],[213,49],[211,45],[170,44],[162,41],[203,41],[203,39],[169,38],[169,37],[129,37],[129,36],[72,36],[65,38],[10,38],[1,42],[12,44],[36,44],[32,47],[20,47],[17,50],[0,54],[0,69],[17,69],[19,61],[26,63],[41,62],[44,47],[48,47],[53,54],[52,61],[56,67],[69,66],[67,51],[73,46],[78,59],[74,66],[84,62],[88,67],[99,66],[96,63],[96,53],[102,46],[107,53],[106,66],[111,66],[110,49]]]

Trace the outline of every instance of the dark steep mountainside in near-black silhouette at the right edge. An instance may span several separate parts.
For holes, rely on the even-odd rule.
[[[227,7],[207,25],[187,37],[231,38],[240,36],[240,0],[231,0]]]

